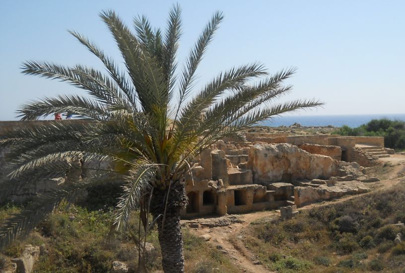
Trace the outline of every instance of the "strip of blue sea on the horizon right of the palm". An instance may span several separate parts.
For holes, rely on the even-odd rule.
[[[261,126],[290,126],[299,123],[302,126],[341,127],[347,125],[354,128],[366,124],[373,119],[390,119],[405,121],[405,114],[371,114],[371,115],[327,115],[327,116],[280,116],[261,123]]]

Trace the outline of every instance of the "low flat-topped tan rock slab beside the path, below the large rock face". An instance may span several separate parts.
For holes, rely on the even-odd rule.
[[[341,181],[332,187],[328,187],[327,185],[320,185],[317,188],[295,187],[294,202],[295,205],[301,206],[319,200],[328,200],[349,194],[365,193],[367,191],[369,191],[368,187],[358,181]]]

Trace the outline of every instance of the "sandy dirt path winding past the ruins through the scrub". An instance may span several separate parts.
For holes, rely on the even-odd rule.
[[[399,176],[400,172],[405,172],[405,155],[395,154],[391,155],[391,157],[382,158],[381,160],[384,163],[389,162],[391,167],[389,167],[388,171],[386,170],[381,173],[377,173],[384,178],[383,180],[374,183],[367,183],[367,185],[370,186],[371,189],[369,193],[395,186],[405,177],[405,175]],[[323,205],[337,204],[352,198],[358,198],[359,196],[367,195],[369,193],[350,195],[332,201],[323,201],[320,203],[306,205],[299,208],[299,210],[311,209],[313,207]],[[243,233],[241,231],[251,222],[254,222],[258,219],[265,217],[279,217],[279,215],[279,210],[257,211],[239,215],[240,219],[243,220],[242,223],[232,223],[227,226],[219,227],[190,228],[190,231],[197,236],[205,236],[207,243],[213,245],[213,247],[226,254],[231,259],[231,261],[233,261],[233,263],[238,268],[240,268],[240,272],[269,273],[270,271],[262,266],[257,258],[242,243],[241,239],[243,239]]]

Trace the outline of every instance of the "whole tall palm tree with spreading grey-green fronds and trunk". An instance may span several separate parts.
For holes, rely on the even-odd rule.
[[[83,174],[53,192],[39,194],[9,218],[1,228],[1,243],[27,234],[55,207],[74,202],[83,189],[124,180],[114,228],[125,226],[135,208],[150,212],[157,223],[164,272],[184,272],[180,210],[187,205],[184,174],[193,165],[190,158],[218,139],[243,138],[241,130],[271,116],[322,102],[274,103],[291,90],[283,81],[295,69],[269,75],[259,63],[226,70],[195,90],[196,70],[223,19],[221,12],[213,14],[179,73],[178,5],[171,9],[164,33],[152,29],[144,16],[134,19],[135,34],[114,11],[100,16],[118,45],[125,69],[74,31],[70,33],[101,60],[107,74],[81,65],[68,68],[36,61],[22,65],[25,74],[67,81],[88,95],[31,101],[18,110],[21,120],[70,112],[88,122],[50,122],[1,136],[1,145],[9,147],[10,180],[0,184],[0,200],[38,179],[65,176],[77,168]],[[112,162],[114,167],[89,170],[85,164],[74,164],[89,160]]]

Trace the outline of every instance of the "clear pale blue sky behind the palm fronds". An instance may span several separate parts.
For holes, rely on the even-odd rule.
[[[302,115],[405,113],[405,1],[178,1],[187,56],[216,10],[225,19],[198,70],[199,82],[232,66],[260,61],[269,72],[296,67],[285,100],[317,98],[324,108]],[[26,60],[102,69],[68,29],[85,34],[121,62],[101,10],[114,9],[132,27],[146,14],[165,28],[173,2],[69,0],[0,2],[0,120],[15,120],[18,106],[56,94],[82,94],[67,83],[24,75]],[[201,86],[196,85],[196,89]]]

